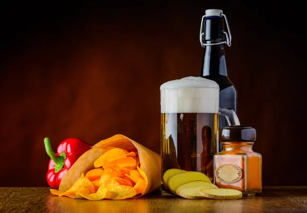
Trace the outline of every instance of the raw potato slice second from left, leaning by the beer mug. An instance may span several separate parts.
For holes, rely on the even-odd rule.
[[[201,172],[183,172],[169,178],[168,187],[173,194],[177,195],[176,191],[179,186],[194,180],[203,180],[211,183],[210,178]]]

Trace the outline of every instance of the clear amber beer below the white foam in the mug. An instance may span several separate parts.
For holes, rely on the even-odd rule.
[[[203,172],[212,180],[217,131],[217,113],[162,113],[162,174],[182,169]],[[162,192],[167,193],[163,185]]]

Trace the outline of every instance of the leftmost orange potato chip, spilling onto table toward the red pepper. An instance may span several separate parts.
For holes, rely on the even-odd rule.
[[[82,193],[85,195],[93,194],[95,193],[95,186],[93,183],[84,177],[84,174],[81,174],[81,177],[72,185],[72,187],[66,191],[66,192],[60,192],[57,190],[50,190],[51,194],[57,195],[57,196],[67,196],[70,198],[77,198],[76,194]]]

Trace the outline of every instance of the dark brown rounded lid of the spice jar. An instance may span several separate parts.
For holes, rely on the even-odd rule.
[[[248,126],[228,126],[220,130],[222,142],[246,142],[256,140],[256,130]]]

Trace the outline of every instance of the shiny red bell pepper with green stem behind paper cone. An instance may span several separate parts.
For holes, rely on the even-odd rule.
[[[68,138],[59,144],[55,154],[48,137],[44,139],[44,143],[47,154],[51,158],[46,176],[47,182],[52,188],[58,189],[64,174],[84,152],[91,149],[91,145],[77,138]]]

